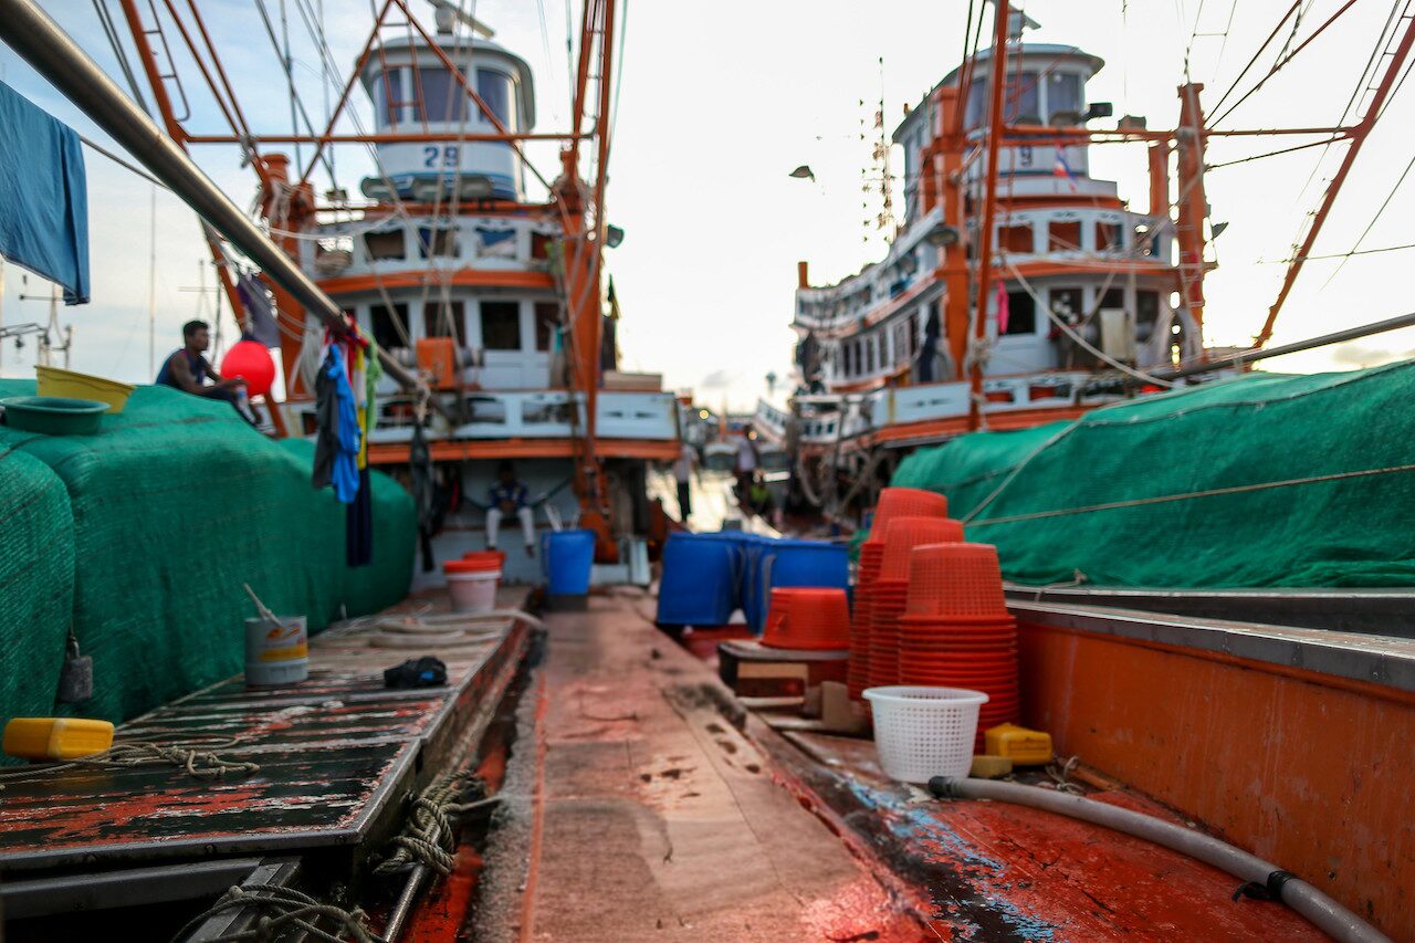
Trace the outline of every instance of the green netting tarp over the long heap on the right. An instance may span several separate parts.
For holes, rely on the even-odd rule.
[[[1415,364],[1255,372],[908,456],[1022,583],[1415,585]]]

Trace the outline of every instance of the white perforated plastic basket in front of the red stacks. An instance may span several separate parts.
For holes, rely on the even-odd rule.
[[[874,714],[874,748],[890,779],[927,783],[961,777],[972,766],[982,691],[965,688],[866,688]]]

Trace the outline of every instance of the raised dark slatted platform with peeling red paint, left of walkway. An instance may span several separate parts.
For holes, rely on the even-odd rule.
[[[248,690],[235,678],[137,718],[119,728],[120,742],[205,748],[260,770],[198,780],[168,766],[69,769],[7,782],[0,871],[78,855],[144,859],[354,842],[400,799],[392,786],[417,776],[415,760],[440,762],[458,731],[464,738],[468,724],[484,719],[490,708],[481,701],[499,697],[514,670],[507,663],[524,644],[524,627],[507,627],[446,650],[432,636],[419,648],[399,636],[393,641],[403,644],[389,648],[378,644],[388,636],[376,627],[335,630],[311,641],[304,684]],[[443,658],[447,685],[383,688],[383,668],[417,654]]]

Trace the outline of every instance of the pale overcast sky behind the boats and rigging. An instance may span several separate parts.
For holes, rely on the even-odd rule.
[[[304,3],[306,8],[320,6],[320,0]],[[117,75],[117,59],[88,0],[45,6],[105,69]],[[122,25],[117,4],[110,6]],[[267,6],[276,11],[280,3],[267,0]],[[1024,10],[1041,24],[1029,40],[1077,44],[1107,61],[1091,82],[1091,101],[1111,101],[1116,115],[1145,115],[1150,127],[1170,127],[1186,58],[1191,78],[1207,85],[1206,102],[1214,103],[1272,30],[1281,16],[1276,6],[1286,7],[1248,3],[1234,13],[1231,3],[1196,0],[1034,0]],[[1313,0],[1296,41],[1339,6],[1339,0]],[[201,8],[258,133],[287,133],[284,76],[253,0],[202,0]],[[296,81],[318,120],[324,108],[320,61],[299,8],[290,0]],[[430,25],[430,7],[415,8],[427,14]],[[576,24],[577,8],[572,13]],[[860,140],[862,120],[872,118],[882,82],[886,122],[893,126],[906,103],[917,103],[958,64],[965,8],[961,0],[723,0],[710,6],[630,0],[627,10],[621,3],[627,28],[607,204],[610,219],[625,229],[623,246],[608,252],[608,269],[621,299],[621,348],[628,368],[661,371],[671,387],[693,388],[715,405],[727,399],[737,409],[750,408],[766,392],[768,372],[782,378],[788,374],[795,262],[809,261],[812,280],[825,283],[856,272],[886,249],[880,234],[863,225],[877,207],[860,205],[860,174],[870,163],[870,144]],[[324,11],[333,58],[347,71],[372,14],[361,3],[328,0]],[[567,122],[566,13],[565,0],[475,4],[477,17],[497,30],[497,41],[521,54],[535,71],[539,130],[563,129]],[[1385,0],[1360,0],[1220,126],[1336,122],[1388,14]],[[1271,55],[1261,59],[1241,88],[1265,72],[1271,61]],[[198,74],[190,64],[181,72],[192,99],[188,126],[194,132],[219,130]],[[106,140],[4,47],[0,78],[81,133]],[[361,91],[355,92],[355,103],[368,125],[369,106]],[[1391,195],[1412,159],[1412,119],[1415,88],[1402,86],[1346,184],[1317,253],[1350,251]],[[1210,147],[1208,160],[1224,163],[1292,143],[1220,140]],[[1217,244],[1220,269],[1207,283],[1211,343],[1245,344],[1258,330],[1282,278],[1282,266],[1275,262],[1289,255],[1343,147],[1326,153],[1309,149],[1208,174],[1213,218],[1230,224]],[[536,146],[531,153],[552,177],[555,146]],[[232,149],[204,149],[197,157],[238,204],[250,202],[253,174],[239,167]],[[86,159],[93,303],[61,316],[76,328],[74,367],[146,381],[151,188],[92,152]],[[788,177],[802,163],[815,170],[815,184]],[[341,183],[351,191],[368,166],[358,149],[338,152]],[[903,161],[896,160],[894,171],[901,170]],[[1143,208],[1143,149],[1094,147],[1091,171],[1119,180],[1122,197]],[[1415,180],[1395,190],[1361,248],[1412,242],[1412,210]],[[209,317],[211,302],[183,290],[200,285],[205,246],[192,214],[167,193],[157,195],[156,244],[160,358],[177,345],[184,320],[197,313]],[[1412,263],[1415,251],[1361,255],[1344,265],[1310,262],[1274,343],[1411,310]],[[47,316],[42,302],[18,300],[20,276],[16,266],[6,266],[6,323]],[[209,270],[205,282],[212,283]],[[30,278],[28,293],[47,290]],[[228,336],[232,330],[228,321]],[[1271,368],[1341,370],[1407,357],[1412,348],[1415,334],[1401,331],[1275,360]],[[0,354],[0,371],[7,377],[31,375],[33,361],[33,345],[20,354],[7,347]]]

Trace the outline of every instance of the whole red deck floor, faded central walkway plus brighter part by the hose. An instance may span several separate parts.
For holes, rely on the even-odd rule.
[[[884,780],[869,741],[788,741],[633,600],[552,616],[531,684],[504,787],[519,804],[485,850],[473,939],[1322,939],[1167,850],[938,803]],[[441,915],[415,939],[454,939]]]

